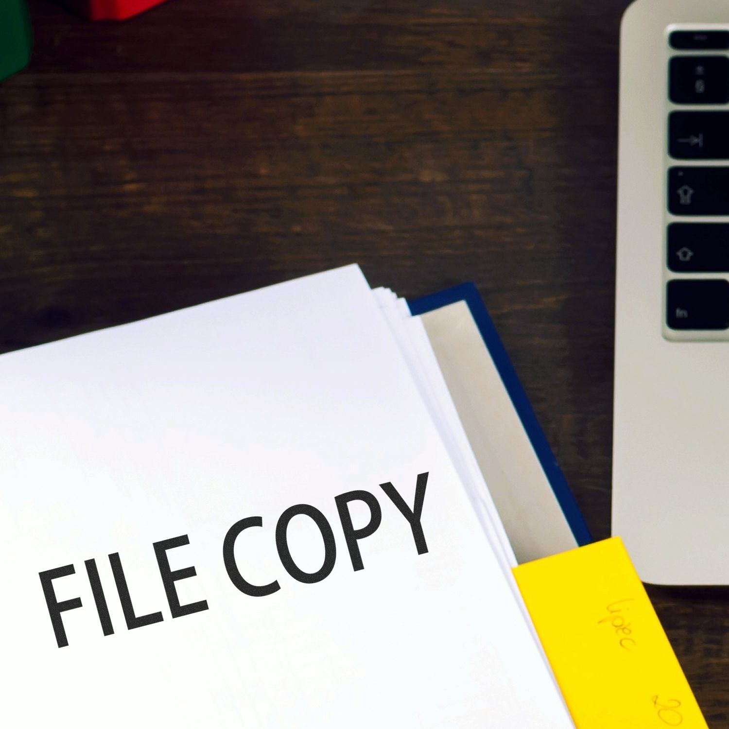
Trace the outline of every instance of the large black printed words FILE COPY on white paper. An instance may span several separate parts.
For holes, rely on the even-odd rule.
[[[424,554],[428,551],[423,527],[421,525],[421,515],[423,512],[427,481],[427,472],[418,475],[413,507],[408,506],[405,499],[402,498],[397,489],[394,488],[391,483],[388,482],[380,484],[380,488],[383,490],[384,494],[386,494],[391,502],[397,507],[397,510],[399,510],[405,518],[405,521],[408,523],[413,534],[418,554]],[[349,512],[349,504],[354,501],[364,502],[370,510],[370,520],[365,526],[362,526],[359,529],[354,528]],[[382,510],[375,495],[371,494],[369,491],[347,491],[344,494],[336,496],[335,502],[352,569],[357,572],[360,569],[364,569],[362,555],[359,552],[359,540],[364,539],[365,537],[370,537],[375,533],[382,521]],[[311,519],[311,521],[313,521],[319,529],[321,539],[324,542],[324,562],[321,567],[316,570],[316,572],[304,572],[303,569],[300,569],[300,567],[296,564],[295,555],[293,555],[291,550],[289,550],[289,542],[287,539],[289,523],[295,516],[299,515],[307,516]],[[240,590],[241,593],[251,597],[265,597],[281,589],[281,585],[278,584],[278,580],[273,580],[265,585],[252,584],[252,582],[246,580],[246,577],[241,574],[241,571],[238,569],[238,564],[235,561],[234,549],[235,542],[238,537],[246,529],[262,526],[263,521],[260,516],[249,516],[243,518],[240,521],[236,521],[233,526],[228,529],[222,543],[222,560],[225,564],[225,571],[230,578],[230,582],[232,582],[235,588]],[[278,522],[276,523],[275,538],[276,550],[278,551],[278,558],[281,561],[281,565],[286,572],[298,582],[305,582],[308,584],[321,582],[321,580],[328,577],[332,572],[332,569],[334,569],[337,558],[337,546],[334,538],[334,531],[332,530],[332,526],[329,521],[327,521],[327,518],[321,511],[316,509],[316,507],[313,507],[310,504],[295,504],[295,506],[286,509],[278,518]],[[167,553],[169,550],[173,550],[176,547],[183,547],[189,544],[190,539],[187,534],[181,534],[178,537],[171,537],[170,539],[163,539],[160,542],[154,542],[152,545],[155,558],[157,560],[157,566],[160,571],[162,585],[170,607],[170,613],[173,618],[183,617],[184,615],[192,615],[196,612],[208,609],[208,602],[206,600],[200,600],[198,602],[192,602],[184,605],[180,604],[179,596],[177,594],[175,583],[179,582],[179,580],[187,580],[190,579],[190,577],[195,577],[197,575],[197,571],[195,566],[187,566],[182,569],[171,569]],[[109,554],[108,558],[127,629],[133,630],[133,628],[141,628],[144,625],[160,623],[163,620],[162,612],[151,612],[147,615],[136,615],[120,554],[115,552]],[[113,635],[114,625],[112,625],[112,618],[109,614],[109,607],[106,602],[106,592],[104,590],[104,586],[101,584],[101,577],[99,576],[95,558],[85,560],[84,566],[95,602],[98,620],[101,623],[101,631],[104,636]],[[66,629],[63,627],[63,612],[83,607],[81,598],[79,597],[62,601],[59,601],[56,597],[55,588],[53,586],[54,580],[60,580],[62,577],[68,577],[71,574],[76,574],[76,567],[74,564],[66,564],[60,567],[55,567],[54,569],[47,569],[43,572],[39,572],[43,594],[48,607],[48,614],[50,615],[53,633],[55,634],[55,640],[58,643],[59,648],[66,647],[69,644],[66,636]]]

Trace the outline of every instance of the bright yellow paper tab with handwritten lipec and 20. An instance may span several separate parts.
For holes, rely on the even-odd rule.
[[[514,574],[577,729],[706,729],[620,538]]]

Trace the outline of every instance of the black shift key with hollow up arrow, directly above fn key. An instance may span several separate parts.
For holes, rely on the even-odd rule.
[[[729,273],[729,224],[669,225],[666,257],[677,273]]]

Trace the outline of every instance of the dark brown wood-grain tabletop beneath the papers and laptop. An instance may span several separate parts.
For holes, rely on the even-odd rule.
[[[609,534],[617,50],[627,0],[31,0],[0,84],[0,348],[347,262],[479,286]],[[729,593],[651,588],[712,727]]]

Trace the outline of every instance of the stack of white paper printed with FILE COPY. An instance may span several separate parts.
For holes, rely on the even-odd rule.
[[[572,727],[422,324],[342,268],[0,357],[0,722]]]

